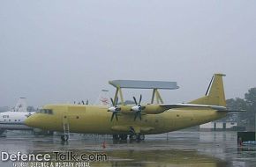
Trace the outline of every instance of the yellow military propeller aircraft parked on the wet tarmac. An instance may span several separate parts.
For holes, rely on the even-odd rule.
[[[109,82],[117,87],[115,98],[111,99],[111,107],[44,105],[38,113],[27,118],[25,123],[30,127],[64,132],[63,141],[68,140],[70,132],[113,134],[115,140],[126,140],[129,135],[131,140],[144,140],[145,134],[167,133],[225,117],[231,111],[226,108],[222,76],[225,75],[215,74],[206,95],[186,104],[154,104],[155,97],[158,102],[162,102],[162,98],[157,87],[149,86],[154,90],[151,104],[141,105],[140,95],[139,101],[133,97],[135,105],[124,105],[120,85],[122,82]],[[129,88],[132,87],[135,88],[136,85],[130,85]],[[117,103],[118,92],[122,101],[120,105]]]

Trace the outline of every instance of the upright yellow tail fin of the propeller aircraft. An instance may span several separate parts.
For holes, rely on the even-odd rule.
[[[208,86],[204,97],[192,100],[190,104],[196,105],[221,105],[226,106],[226,99],[223,87],[223,74],[215,74]]]

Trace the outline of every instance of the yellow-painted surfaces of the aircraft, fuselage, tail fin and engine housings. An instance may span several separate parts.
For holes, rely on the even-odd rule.
[[[208,95],[190,103],[225,106],[222,76],[215,74]],[[118,121],[110,121],[112,113],[108,112],[107,106],[45,105],[43,109],[52,110],[52,114],[34,113],[25,123],[30,127],[63,132],[64,122],[68,122],[70,132],[83,134],[129,134],[131,127],[140,134],[162,134],[218,120],[227,114],[210,107],[191,106],[163,110],[160,105],[147,105],[147,110],[156,110],[152,112],[154,114],[142,113],[142,120],[134,121],[134,113],[130,111],[132,105],[120,107],[126,112],[118,113]]]

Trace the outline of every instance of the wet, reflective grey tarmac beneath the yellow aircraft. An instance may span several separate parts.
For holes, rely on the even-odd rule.
[[[63,163],[52,159],[53,167],[83,166],[256,166],[256,147],[237,146],[236,132],[184,132],[147,135],[143,142],[113,142],[107,135],[71,136],[61,142],[58,136],[33,134],[7,134],[0,138],[1,152],[14,154],[64,154],[105,155],[107,160]],[[68,161],[72,162],[72,161]],[[0,161],[1,167],[18,166],[19,163]],[[19,164],[20,165],[20,164]],[[23,164],[24,165],[24,164]],[[43,166],[44,165],[44,166]],[[30,166],[47,167],[50,164],[31,163]]]

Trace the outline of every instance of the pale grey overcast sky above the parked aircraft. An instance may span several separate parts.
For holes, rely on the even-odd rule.
[[[226,98],[256,87],[256,1],[0,1],[0,106],[65,103],[113,79],[177,81],[167,103],[200,98],[222,72]],[[150,98],[124,91],[124,98]]]

